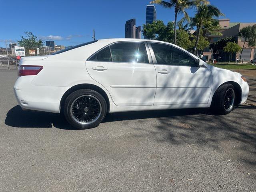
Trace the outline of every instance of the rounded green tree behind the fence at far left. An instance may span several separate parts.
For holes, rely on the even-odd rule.
[[[41,39],[38,39],[37,36],[32,34],[32,32],[24,32],[26,36],[20,36],[21,40],[18,41],[20,46],[24,47],[42,47],[44,45]]]

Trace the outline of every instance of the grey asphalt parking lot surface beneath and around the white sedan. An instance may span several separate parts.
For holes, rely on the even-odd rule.
[[[248,104],[108,114],[74,130],[59,114],[22,111],[16,70],[0,70],[0,191],[256,191],[256,70]],[[250,74],[252,73],[252,74]]]

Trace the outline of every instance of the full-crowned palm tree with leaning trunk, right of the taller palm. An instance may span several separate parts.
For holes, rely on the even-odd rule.
[[[220,10],[212,5],[200,5],[197,8],[197,12],[194,18],[190,18],[190,26],[196,26],[196,43],[194,46],[194,54],[196,54],[196,49],[200,36],[205,36],[205,34],[218,34],[221,33],[216,31],[220,28],[218,20],[216,18],[224,16]]]

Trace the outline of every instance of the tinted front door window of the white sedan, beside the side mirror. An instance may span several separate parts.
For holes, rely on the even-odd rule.
[[[195,59],[189,54],[173,46],[150,43],[156,57],[157,64],[178,65],[178,66],[196,66]]]

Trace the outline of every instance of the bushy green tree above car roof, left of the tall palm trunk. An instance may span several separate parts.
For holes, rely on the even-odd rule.
[[[164,22],[157,20],[152,24],[144,24],[142,26],[142,34],[146,39],[160,40],[165,42],[173,41],[173,22],[168,22],[167,25],[164,25]]]

